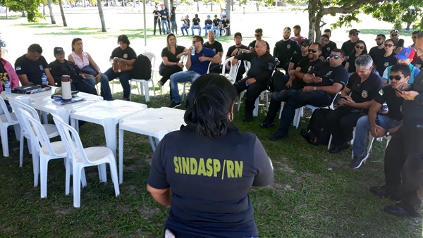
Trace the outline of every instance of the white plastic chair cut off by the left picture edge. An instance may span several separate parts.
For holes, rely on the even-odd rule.
[[[16,118],[15,113],[9,113],[8,108],[6,106],[6,103],[4,102],[4,99],[0,96],[0,106],[4,111],[4,114],[0,115],[0,135],[1,135],[1,146],[3,146],[3,156],[8,157],[8,134],[7,134],[7,128],[10,125],[13,125],[15,127],[15,134],[16,139],[20,139],[20,125],[18,122],[18,118]]]

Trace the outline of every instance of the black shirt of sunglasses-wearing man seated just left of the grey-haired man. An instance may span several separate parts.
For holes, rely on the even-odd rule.
[[[338,82],[345,86],[348,81],[348,74],[347,70],[343,68],[343,65],[338,65],[338,67],[331,67],[329,61],[322,61],[317,63],[312,70],[308,72],[310,75],[313,73],[316,75],[318,74],[321,77],[321,82],[317,83],[308,83],[306,86],[316,86],[316,87],[324,87],[324,86],[332,86],[334,83]],[[318,76],[316,75],[316,76]]]

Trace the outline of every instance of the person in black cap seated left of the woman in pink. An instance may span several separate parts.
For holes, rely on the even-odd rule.
[[[54,58],[56,58],[56,61],[51,62],[49,66],[51,75],[54,77],[54,82],[56,82],[58,87],[61,87],[62,75],[69,75],[71,77],[71,89],[73,91],[78,90],[80,92],[98,95],[95,87],[82,81],[85,79],[85,76],[81,73],[80,68],[72,61],[65,59],[65,51],[63,51],[62,47],[54,48]]]

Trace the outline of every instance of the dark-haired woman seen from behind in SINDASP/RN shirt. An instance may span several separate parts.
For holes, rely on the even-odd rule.
[[[165,232],[176,237],[258,237],[250,187],[274,180],[259,139],[231,124],[235,87],[222,75],[192,83],[185,127],[154,151],[147,189],[171,206]]]

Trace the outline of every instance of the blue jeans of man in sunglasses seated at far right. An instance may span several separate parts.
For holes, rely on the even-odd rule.
[[[403,124],[403,122],[400,122],[398,120],[393,120],[392,118],[386,116],[386,115],[377,115],[377,118],[380,121],[381,127],[386,129],[391,129],[393,127],[396,127],[397,125]],[[367,139],[367,133],[370,130],[370,123],[369,118],[367,115],[362,116],[360,119],[357,120],[357,125],[355,126],[355,139],[353,144],[353,154],[354,156],[361,156],[364,154],[364,151],[366,150],[366,139]]]

